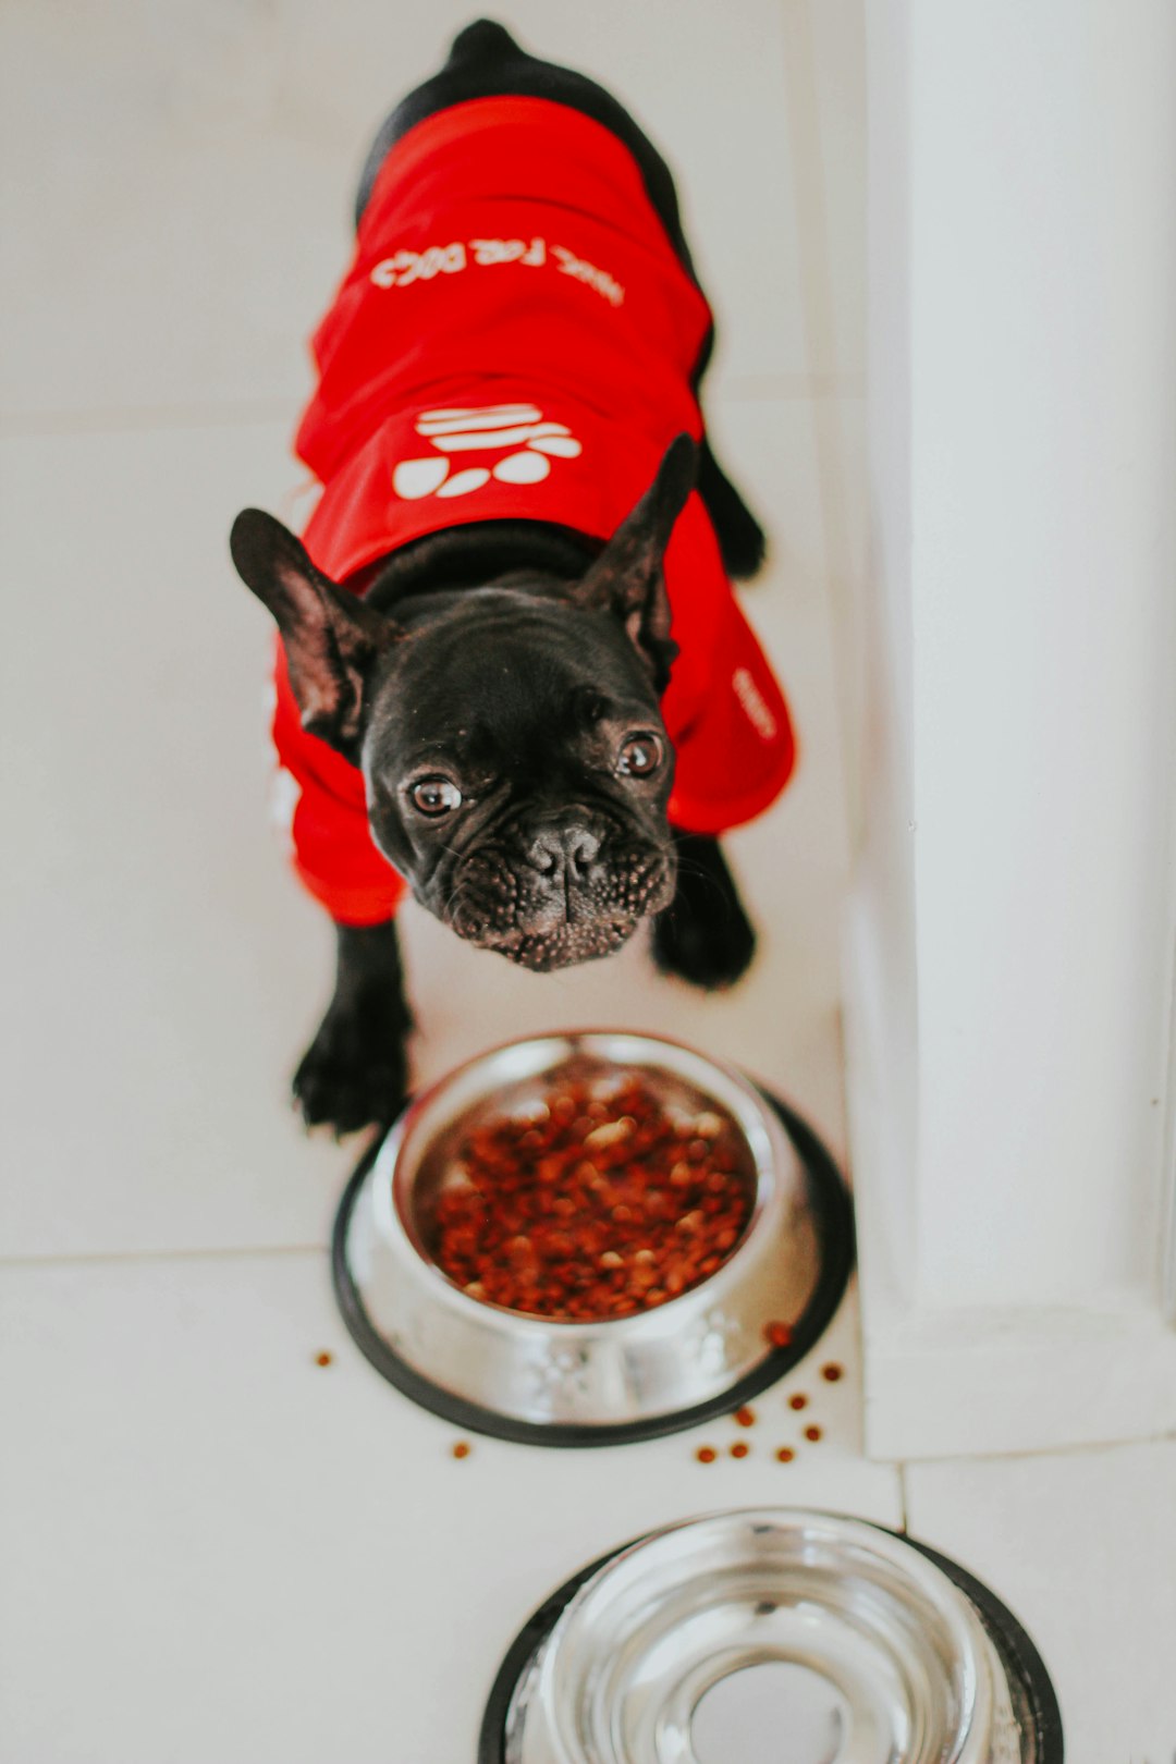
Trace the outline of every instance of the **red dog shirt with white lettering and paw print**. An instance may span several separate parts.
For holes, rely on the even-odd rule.
[[[674,436],[702,436],[691,374],[709,326],[636,162],[601,123],[515,97],[427,118],[384,161],[314,335],[319,383],[296,441],[323,483],[314,563],[346,584],[471,520],[607,540]],[[788,781],[788,709],[698,494],[665,579],[681,649],[661,706],[670,822],[721,833]],[[296,785],[301,880],[339,923],[388,919],[406,884],[372,843],[360,771],[301,729],[280,656],[273,739]]]

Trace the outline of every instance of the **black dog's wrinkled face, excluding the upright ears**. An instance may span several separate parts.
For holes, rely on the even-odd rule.
[[[473,944],[538,970],[608,954],[674,891],[649,669],[607,612],[511,587],[439,607],[370,686],[376,843]]]

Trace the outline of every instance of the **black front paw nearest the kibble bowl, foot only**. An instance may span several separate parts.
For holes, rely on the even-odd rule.
[[[383,988],[335,1000],[294,1073],[307,1127],[344,1134],[393,1122],[407,1097],[406,1041],[397,1000]]]

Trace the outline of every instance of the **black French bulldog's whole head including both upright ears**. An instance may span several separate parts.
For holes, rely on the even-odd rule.
[[[273,517],[233,526],[303,729],[363,771],[376,845],[460,937],[524,967],[608,954],[672,898],[661,559],[695,467],[679,436],[580,580],[517,572],[395,612],[339,589]]]

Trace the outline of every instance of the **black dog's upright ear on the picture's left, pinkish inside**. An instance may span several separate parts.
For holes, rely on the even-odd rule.
[[[397,640],[397,626],[335,587],[301,540],[261,508],[242,510],[229,550],[242,580],[277,619],[301,727],[353,759],[363,690],[376,658]]]

